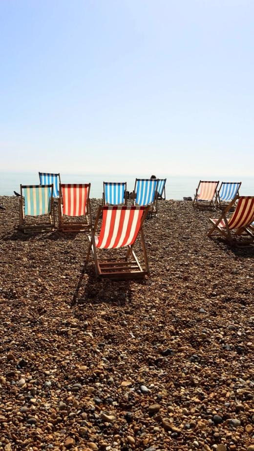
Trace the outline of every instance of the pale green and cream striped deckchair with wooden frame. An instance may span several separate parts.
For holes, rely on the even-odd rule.
[[[27,223],[26,216],[42,216],[38,222]],[[53,217],[53,220],[52,220]],[[53,184],[21,185],[20,197],[20,225],[24,233],[28,231],[45,231],[55,227],[55,213],[53,207]]]

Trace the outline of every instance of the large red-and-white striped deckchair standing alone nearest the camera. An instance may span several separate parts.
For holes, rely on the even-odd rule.
[[[94,229],[89,239],[86,262],[92,250],[96,274],[110,279],[142,278],[149,273],[147,250],[142,225],[148,214],[149,206],[100,206]],[[102,212],[102,227],[97,231],[98,220]],[[133,246],[140,235],[143,248],[145,270],[142,269]],[[116,249],[127,246],[124,258],[99,260],[98,249]]]

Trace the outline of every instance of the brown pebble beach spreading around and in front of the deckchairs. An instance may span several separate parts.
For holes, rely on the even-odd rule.
[[[207,237],[218,211],[160,201],[150,276],[115,282],[0,204],[0,450],[254,451],[254,247]]]

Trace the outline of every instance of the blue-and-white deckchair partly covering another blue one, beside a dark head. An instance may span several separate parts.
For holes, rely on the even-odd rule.
[[[157,179],[136,179],[132,196],[133,205],[150,205],[149,213],[155,213],[154,203],[157,184]]]

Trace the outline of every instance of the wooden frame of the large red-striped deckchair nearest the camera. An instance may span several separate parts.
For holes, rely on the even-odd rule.
[[[144,211],[143,217],[141,219],[141,226],[138,235],[140,234],[141,238],[141,244],[143,249],[143,255],[145,260],[145,270],[142,269],[142,266],[140,265],[138,258],[133,250],[133,247],[135,245],[135,242],[131,246],[127,247],[127,254],[124,259],[122,260],[99,260],[98,259],[98,250],[99,248],[96,247],[95,244],[95,234],[98,228],[98,221],[102,214],[103,207],[99,206],[96,220],[94,227],[92,227],[91,230],[91,236],[88,237],[89,240],[89,246],[88,251],[86,254],[85,262],[87,263],[89,260],[90,253],[92,251],[94,264],[95,264],[95,271],[96,275],[98,277],[105,277],[108,279],[114,279],[114,280],[125,280],[125,279],[142,279],[145,277],[145,275],[149,275],[149,266],[148,266],[148,255],[147,255],[147,249],[145,244],[145,238],[144,238],[144,232],[143,232],[143,224],[147,217],[149,210],[149,206]],[[138,237],[137,235],[137,237]],[[136,237],[136,239],[137,239]],[[115,248],[116,251],[118,248]],[[103,250],[103,249],[101,249]],[[133,257],[131,261],[129,261],[130,257]]]

